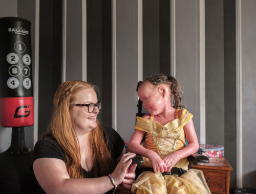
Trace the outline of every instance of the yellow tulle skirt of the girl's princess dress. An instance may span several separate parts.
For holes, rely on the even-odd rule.
[[[205,194],[210,193],[202,171],[189,169],[180,177],[176,175],[162,176],[160,172],[145,171],[139,175],[132,186],[136,194]]]

